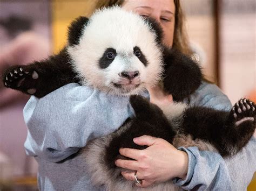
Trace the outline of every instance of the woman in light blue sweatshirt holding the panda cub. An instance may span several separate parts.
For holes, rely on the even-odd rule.
[[[166,46],[177,48],[188,56],[192,55],[183,29],[183,13],[179,0],[99,0],[96,8],[116,4],[126,10],[136,11],[142,16],[156,19],[163,28],[163,43]],[[81,125],[78,125],[79,128],[76,129],[75,125],[66,124],[65,122],[69,122],[66,119],[72,116],[71,111],[76,111],[70,108],[69,115],[62,115],[62,110],[68,107],[66,104],[70,104],[73,97],[69,100],[61,99],[66,89],[71,86],[75,86],[76,90],[80,91],[80,94],[77,91],[73,94],[80,99],[85,92],[83,90],[85,87],[68,84],[53,91],[51,96],[32,99],[30,101],[32,108],[35,105],[40,106],[37,110],[29,107],[24,109],[24,118],[28,128],[30,126],[37,128],[37,131],[29,130],[25,148],[26,153],[38,161],[40,190],[98,190],[90,185],[90,174],[86,174],[84,171],[86,166],[81,162],[84,159],[76,153],[87,143],[83,133],[87,133],[92,139],[106,135],[114,129],[102,132],[102,129],[95,126],[93,127],[95,130],[89,133],[84,131]],[[152,103],[172,102],[172,96],[166,95],[160,87],[149,89],[149,92]],[[56,116],[49,115],[49,107],[53,104],[52,99],[59,103],[56,108],[53,108],[58,118],[55,121],[49,119],[50,125],[38,123],[37,118]],[[203,82],[191,95],[189,103],[220,110],[230,110],[232,107],[220,89],[207,82]],[[92,108],[86,108],[86,110],[97,115]],[[79,120],[83,120],[77,115],[73,117],[77,119],[78,124],[80,124]],[[49,128],[49,131],[46,128]],[[252,138],[248,145],[232,159],[223,159],[218,153],[199,151],[197,147],[177,149],[164,139],[142,136],[134,138],[134,143],[149,147],[145,150],[120,149],[120,154],[134,160],[117,160],[116,165],[133,170],[131,173],[123,173],[123,176],[127,180],[137,180],[138,187],[148,187],[156,182],[173,179],[174,183],[183,189],[245,190],[256,167],[255,142],[256,139]]]

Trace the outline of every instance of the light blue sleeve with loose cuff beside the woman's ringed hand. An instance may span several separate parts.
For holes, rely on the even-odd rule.
[[[188,154],[185,180],[174,178],[173,183],[185,190],[246,190],[256,171],[256,138],[231,158],[223,159],[198,147],[180,147]]]

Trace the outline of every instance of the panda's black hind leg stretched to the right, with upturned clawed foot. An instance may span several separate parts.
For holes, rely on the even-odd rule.
[[[181,128],[185,135],[214,145],[223,157],[234,155],[254,133],[255,107],[253,102],[245,99],[235,104],[230,112],[191,107],[184,113]]]

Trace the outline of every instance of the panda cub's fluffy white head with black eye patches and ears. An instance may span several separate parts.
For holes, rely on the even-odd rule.
[[[68,53],[82,84],[110,94],[131,95],[160,80],[160,41],[156,23],[113,7],[71,24]]]

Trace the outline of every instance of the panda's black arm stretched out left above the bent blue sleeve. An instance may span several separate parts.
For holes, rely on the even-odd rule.
[[[3,74],[3,83],[5,87],[43,97],[65,84],[78,82],[75,76],[64,48],[49,59],[8,68]]]

